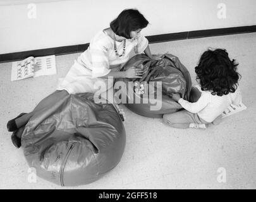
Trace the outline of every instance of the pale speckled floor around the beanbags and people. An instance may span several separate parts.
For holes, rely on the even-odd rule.
[[[226,189],[256,188],[256,33],[150,44],[154,54],[171,52],[189,69],[207,47],[225,48],[240,65],[243,103],[248,109],[208,128],[173,129],[162,119],[138,116],[125,108],[127,142],[118,166],[92,184],[60,187],[37,178],[28,182],[28,165],[6,131],[6,122],[34,109],[54,92],[78,54],[56,57],[58,73],[11,82],[11,63],[0,64],[0,188],[5,189]],[[226,170],[219,183],[217,170]]]

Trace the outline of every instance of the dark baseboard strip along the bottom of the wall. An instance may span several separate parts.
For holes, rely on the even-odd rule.
[[[231,35],[239,33],[250,33],[256,32],[256,25],[245,26],[245,27],[229,27],[229,28],[217,28],[211,30],[196,30],[190,32],[178,32],[178,33],[167,33],[161,35],[147,36],[150,44],[169,42],[172,40],[184,40],[184,39],[195,39],[202,37],[214,37],[221,35]],[[0,62],[11,62],[21,59],[25,59],[29,56],[39,57],[39,56],[49,56],[49,55],[63,55],[71,54],[75,52],[83,52],[88,48],[89,44],[79,44],[79,45],[68,45],[63,47],[53,47],[49,49],[39,49],[39,50],[28,50],[23,52],[11,52],[8,54],[0,54]]]

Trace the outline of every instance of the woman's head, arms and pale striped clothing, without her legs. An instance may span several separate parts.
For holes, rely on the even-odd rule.
[[[71,94],[96,92],[101,85],[101,93],[111,94],[107,90],[112,90],[114,78],[140,78],[143,73],[140,69],[119,70],[136,54],[144,52],[152,58],[149,41],[140,35],[148,24],[149,21],[137,9],[123,10],[111,21],[109,28],[98,32],[90,41],[88,49],[59,83],[58,90]]]

